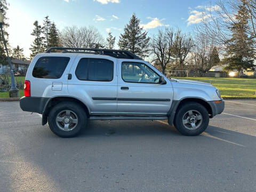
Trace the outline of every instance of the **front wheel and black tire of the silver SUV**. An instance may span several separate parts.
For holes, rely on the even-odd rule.
[[[202,119],[199,119],[200,116]],[[209,113],[204,106],[197,102],[184,103],[181,107],[179,107],[174,118],[175,128],[181,134],[187,136],[196,136],[203,133],[208,124]]]

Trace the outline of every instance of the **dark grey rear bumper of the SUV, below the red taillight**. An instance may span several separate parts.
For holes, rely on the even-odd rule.
[[[50,98],[41,97],[22,97],[20,98],[20,108],[23,111],[42,114],[46,103]]]

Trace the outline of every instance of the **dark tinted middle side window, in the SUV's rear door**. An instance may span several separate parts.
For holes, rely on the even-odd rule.
[[[104,81],[113,79],[114,62],[107,59],[81,59],[76,67],[76,77],[82,81]]]

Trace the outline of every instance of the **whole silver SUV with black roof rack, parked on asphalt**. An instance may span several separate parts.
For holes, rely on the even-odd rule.
[[[211,84],[169,79],[122,50],[51,47],[30,63],[24,90],[21,109],[42,114],[60,137],[74,137],[88,119],[167,119],[180,133],[198,135],[224,109]]]

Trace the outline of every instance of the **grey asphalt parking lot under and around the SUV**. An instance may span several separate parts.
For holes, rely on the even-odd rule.
[[[0,121],[0,191],[256,191],[256,100],[227,101],[197,137],[91,121],[63,139],[14,101],[0,102]]]

